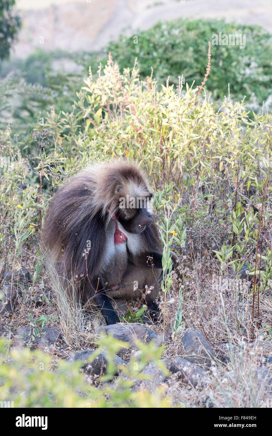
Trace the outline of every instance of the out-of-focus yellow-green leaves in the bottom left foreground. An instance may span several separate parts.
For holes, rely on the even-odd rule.
[[[8,344],[0,340],[0,387],[1,399],[14,402],[14,407],[171,407],[172,399],[165,389],[153,392],[133,391],[137,381],[147,379],[141,374],[146,365],[153,361],[163,373],[167,368],[160,361],[162,350],[152,344],[139,344],[141,353],[138,360],[132,358],[126,367],[120,368],[122,376],[113,384],[105,383],[114,378],[117,368],[114,362],[116,352],[126,343],[113,337],[104,337],[100,347],[92,356],[94,360],[102,350],[107,353],[107,369],[100,381],[103,387],[95,387],[98,377],[84,375],[79,371],[83,361],[74,364],[54,361],[40,350],[8,350]]]

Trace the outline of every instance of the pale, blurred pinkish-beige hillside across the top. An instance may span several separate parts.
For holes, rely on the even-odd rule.
[[[36,48],[96,51],[121,33],[179,17],[225,18],[259,24],[272,33],[272,2],[266,0],[18,0],[17,9],[22,29],[13,56],[20,58]]]

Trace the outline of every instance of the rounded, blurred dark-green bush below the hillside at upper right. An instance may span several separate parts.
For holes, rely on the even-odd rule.
[[[245,34],[246,45],[244,49],[238,45],[212,45],[207,89],[215,100],[224,99],[229,83],[231,96],[236,101],[246,96],[247,106],[256,112],[272,94],[272,36],[262,27],[223,20],[179,19],[135,32],[137,40],[134,35],[121,35],[108,45],[106,52],[111,51],[121,71],[127,66],[132,68],[137,57],[143,80],[153,68],[154,77],[163,85],[168,76],[170,84],[178,85],[181,75],[189,85],[194,81],[200,85],[206,72],[208,41],[219,32]]]

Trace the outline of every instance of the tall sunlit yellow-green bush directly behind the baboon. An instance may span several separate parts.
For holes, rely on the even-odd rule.
[[[40,206],[34,206],[34,210],[43,210],[43,187],[47,191],[50,186],[57,187],[90,161],[126,157],[139,162],[154,180],[158,210],[163,208],[163,201],[168,204],[170,198],[173,200],[173,218],[180,216],[189,229],[194,251],[200,232],[201,244],[207,249],[221,247],[226,239],[231,242],[236,204],[240,202],[240,215],[251,213],[256,223],[256,205],[270,165],[271,116],[252,121],[245,107],[230,99],[218,111],[196,91],[188,85],[185,93],[181,87],[174,92],[173,85],[158,90],[153,80],[139,83],[137,69],[125,69],[121,75],[117,65],[107,65],[104,75],[95,82],[87,79],[72,112],[57,114],[52,109],[44,126],[35,129],[31,151],[37,166],[32,175],[27,174],[31,160],[23,161],[23,171],[19,162],[17,170],[4,171],[2,207],[8,206],[6,214],[13,219],[22,195],[27,199],[22,216],[27,216],[29,195],[33,200],[38,198]],[[10,153],[10,147],[7,130],[2,132],[3,155]],[[30,187],[17,191],[14,177],[18,187],[26,183]],[[37,183],[38,188],[34,186]],[[12,186],[12,195],[7,185]],[[264,208],[270,189],[268,183]],[[240,216],[237,214],[235,220]],[[265,225],[270,218],[267,208]],[[32,218],[29,224],[37,225],[37,221]],[[256,237],[252,226],[255,224],[250,225],[246,239],[249,246]],[[244,222],[241,231],[235,232],[235,243],[240,235],[244,237],[246,229]],[[211,242],[211,234],[216,235],[216,242]]]

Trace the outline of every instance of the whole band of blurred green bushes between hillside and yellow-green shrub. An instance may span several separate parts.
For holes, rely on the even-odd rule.
[[[229,83],[231,98],[240,101],[245,97],[251,116],[252,111],[271,112],[271,35],[259,26],[227,24],[223,20],[180,19],[158,23],[147,31],[136,32],[135,36],[121,36],[100,53],[38,50],[24,61],[16,58],[2,61],[0,77],[5,79],[0,82],[3,95],[0,127],[11,121],[13,131],[25,135],[50,106],[54,105],[56,112],[69,110],[75,92],[88,75],[89,66],[96,77],[97,71],[103,71],[106,65],[109,51],[121,72],[124,68],[132,69],[137,58],[140,79],[146,80],[153,68],[153,78],[159,84],[166,85],[169,77],[169,84],[174,84],[176,89],[179,76],[183,76],[184,83],[191,86],[195,81],[195,85],[200,85],[207,67],[208,41],[219,32],[245,34],[246,44],[244,49],[238,45],[211,46],[207,92],[220,104],[224,95],[228,95]]]

